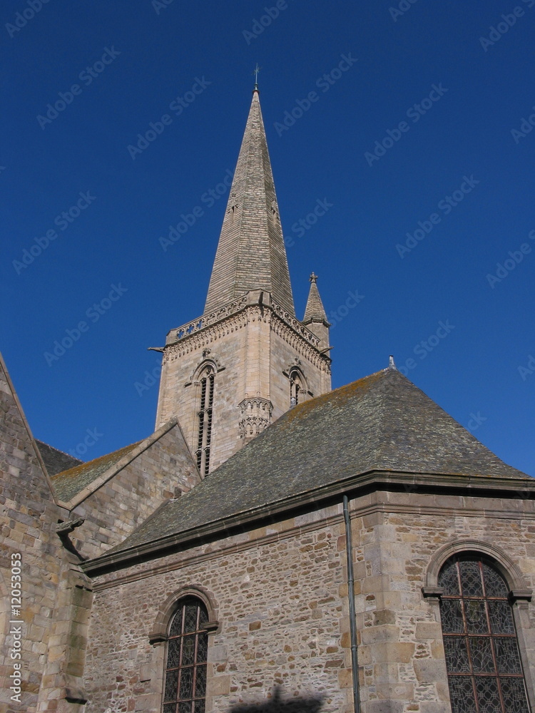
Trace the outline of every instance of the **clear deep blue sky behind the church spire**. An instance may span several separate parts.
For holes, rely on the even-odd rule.
[[[0,284],[37,438],[73,451],[96,431],[89,459],[153,430],[158,388],[136,382],[203,311],[227,198],[209,192],[258,62],[297,316],[314,270],[333,385],[394,354],[535,475],[535,1],[32,1],[1,10]]]

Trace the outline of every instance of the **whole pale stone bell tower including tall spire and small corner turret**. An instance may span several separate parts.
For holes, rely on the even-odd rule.
[[[300,322],[255,86],[204,314],[171,329],[163,349],[156,427],[178,418],[201,475],[330,391],[329,324],[311,281]]]

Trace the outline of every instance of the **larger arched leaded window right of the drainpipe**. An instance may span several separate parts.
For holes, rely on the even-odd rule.
[[[438,585],[452,713],[529,713],[502,575],[477,554],[454,555]]]

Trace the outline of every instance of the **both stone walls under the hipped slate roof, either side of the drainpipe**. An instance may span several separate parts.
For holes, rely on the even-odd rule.
[[[499,543],[533,587],[532,503],[371,493],[351,509],[362,713],[450,713],[427,568],[444,545],[477,538]],[[322,695],[322,712],[352,710],[345,529],[333,507],[96,578],[87,713],[159,710],[165,644],[148,635],[163,602],[193,585],[220,622],[208,711],[265,701],[277,684],[283,697]],[[534,605],[514,607],[532,689]]]

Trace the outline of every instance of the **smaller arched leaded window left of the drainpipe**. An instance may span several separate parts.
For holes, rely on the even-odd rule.
[[[208,622],[205,605],[185,597],[171,617],[165,657],[163,713],[204,713]]]

